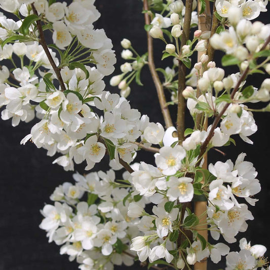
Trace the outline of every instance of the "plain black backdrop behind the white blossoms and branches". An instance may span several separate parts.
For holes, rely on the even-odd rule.
[[[122,38],[131,40],[133,47],[139,54],[146,51],[144,22],[141,14],[142,3],[139,0],[98,0],[96,6],[101,13],[96,28],[104,28],[108,37],[112,39],[114,50],[117,53],[118,63],[115,65],[115,74],[120,73]],[[265,23],[269,18],[269,12],[263,13],[261,20]],[[160,41],[155,45],[163,49]],[[161,51],[160,50],[160,51]],[[157,63],[161,63],[161,56],[156,54]],[[219,56],[217,58],[220,58]],[[168,60],[170,61],[170,60]],[[170,62],[169,62],[170,63]],[[157,66],[161,66],[157,64]],[[165,67],[165,66],[164,66]],[[259,85],[263,76],[253,76],[250,82]],[[108,82],[108,80],[106,81]],[[139,109],[141,114],[148,114],[151,122],[161,122],[160,112],[155,88],[149,77],[147,67],[142,72],[144,87],[131,85],[131,106]],[[118,92],[117,88],[111,88],[106,84],[105,90]],[[168,95],[169,98],[169,95]],[[169,100],[169,99],[168,99]],[[255,107],[256,105],[253,105]],[[173,120],[176,120],[176,109],[172,109]],[[251,244],[262,244],[267,247],[269,240],[268,215],[270,197],[269,191],[269,135],[268,113],[255,113],[254,118],[258,126],[256,134],[251,136],[254,145],[244,143],[238,136],[237,147],[223,148],[226,157],[214,150],[210,151],[210,162],[217,160],[226,161],[232,159],[234,162],[241,152],[246,152],[247,161],[254,163],[257,169],[262,191],[256,198],[259,199],[255,207],[249,207],[255,219],[248,221],[249,227],[246,233],[240,233],[238,239],[246,237]],[[190,119],[187,119],[187,127],[192,127]],[[65,172],[62,167],[53,165],[54,158],[46,156],[44,149],[37,149],[32,143],[20,145],[20,140],[30,133],[33,123],[21,123],[18,127],[11,126],[11,120],[0,121],[0,270],[34,270],[34,269],[76,269],[78,263],[68,261],[67,255],[59,254],[59,247],[54,243],[48,244],[46,232],[38,225],[41,223],[42,215],[40,209],[44,203],[51,203],[49,196],[59,184],[72,182],[72,172]],[[139,153],[141,158],[144,153]],[[146,162],[152,162],[153,158],[146,155]],[[83,173],[83,166],[75,168]],[[107,163],[103,160],[94,170],[106,170]],[[212,243],[216,243],[212,241]],[[231,251],[238,251],[238,244],[232,245]],[[137,266],[134,266],[135,269]],[[224,262],[219,265],[209,264],[208,269],[224,268]],[[115,269],[119,269],[117,266]],[[124,267],[125,268],[125,267]]]

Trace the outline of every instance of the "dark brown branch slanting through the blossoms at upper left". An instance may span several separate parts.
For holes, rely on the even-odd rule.
[[[33,10],[33,13],[38,16],[37,10],[35,9],[35,6],[34,6],[33,3],[31,4],[31,7],[32,7],[32,10]],[[52,55],[51,55],[51,53],[50,53],[50,51],[48,49],[48,46],[46,44],[44,32],[43,32],[43,29],[42,29],[41,20],[37,20],[36,25],[37,25],[37,30],[40,33],[40,44],[41,44],[42,48],[44,49],[44,51],[45,51],[45,53],[46,53],[46,55],[48,57],[48,60],[49,60],[51,66],[52,66],[52,68],[53,68],[53,70],[54,70],[54,72],[55,72],[55,74],[57,76],[57,79],[59,81],[59,84],[61,86],[62,91],[64,91],[64,90],[66,90],[66,88],[65,88],[65,85],[64,85],[61,73],[60,73],[60,69],[56,66],[56,64],[55,64],[55,62],[53,60],[53,57],[52,57]]]

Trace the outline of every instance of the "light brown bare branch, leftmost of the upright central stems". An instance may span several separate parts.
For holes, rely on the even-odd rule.
[[[143,0],[143,9],[145,11],[148,11],[147,0]],[[145,20],[145,24],[150,24],[150,17],[149,17],[149,14],[147,12],[144,13],[144,20]],[[154,56],[153,56],[153,40],[152,40],[152,37],[150,36],[149,32],[147,32],[147,48],[148,48],[148,66],[150,69],[153,83],[155,84],[155,87],[157,89],[159,102],[160,102],[160,106],[161,106],[161,111],[163,114],[166,128],[169,128],[169,127],[173,126],[173,123],[172,123],[170,111],[169,111],[169,108],[167,105],[167,101],[165,98],[164,89],[163,89],[162,83],[160,81],[159,75],[156,71],[156,66],[155,66]]]

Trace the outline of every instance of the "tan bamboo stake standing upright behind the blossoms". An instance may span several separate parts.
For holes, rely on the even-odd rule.
[[[202,30],[202,32],[204,31],[210,31],[211,29],[211,11],[210,11],[210,2],[208,0],[206,0],[206,7],[205,7],[205,11],[200,14],[200,11],[202,9],[202,5],[201,5],[201,1],[198,1],[198,20],[199,20],[199,29]],[[209,46],[209,45],[208,45]],[[205,52],[198,52],[198,62],[200,61],[200,58],[203,54],[206,54]],[[204,70],[202,68],[202,70],[198,70],[199,74],[203,74]],[[200,96],[200,89],[197,87],[197,96]],[[197,127],[201,129],[201,127],[198,125],[198,123],[201,123],[201,118],[202,118],[202,114],[198,115],[198,119],[197,119]],[[206,119],[205,124],[204,124],[204,129],[207,130],[208,127],[208,121]],[[204,164],[203,164],[203,168],[207,169],[207,154],[204,155]],[[194,212],[195,215],[197,215],[200,220],[199,224],[203,224],[200,225],[202,228],[204,228],[204,230],[201,230],[200,234],[205,238],[205,240],[208,240],[208,230],[207,230],[207,202],[195,202],[194,203]],[[194,265],[194,270],[207,270],[207,259],[202,260],[201,262],[197,262]]]

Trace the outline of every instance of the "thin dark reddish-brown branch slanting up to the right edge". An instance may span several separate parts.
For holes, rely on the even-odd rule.
[[[265,41],[264,45],[261,47],[260,51],[264,50],[266,48],[266,46],[268,45],[268,43],[270,42],[270,35],[268,36],[267,40]],[[241,77],[239,78],[232,94],[230,95],[230,98],[231,99],[234,99],[234,96],[236,94],[236,92],[238,91],[241,83],[246,79],[246,76],[248,74],[248,71],[249,71],[249,67],[247,67],[245,69],[245,71],[243,72],[243,74],[241,75]],[[201,145],[201,151],[200,151],[200,155],[198,157],[198,162],[196,164],[196,166],[199,166],[200,162],[201,162],[201,158],[203,157],[204,153],[206,152],[206,149],[207,149],[207,146],[210,142],[210,140],[212,139],[212,137],[214,136],[214,130],[215,128],[217,127],[218,123],[219,123],[219,120],[221,119],[221,117],[223,116],[224,112],[226,111],[226,109],[228,108],[230,103],[226,103],[226,105],[223,107],[223,109],[220,111],[220,113],[216,116],[213,124],[212,124],[212,127],[209,131],[209,134],[207,136],[207,138],[205,139],[205,141],[203,142],[203,144]]]

